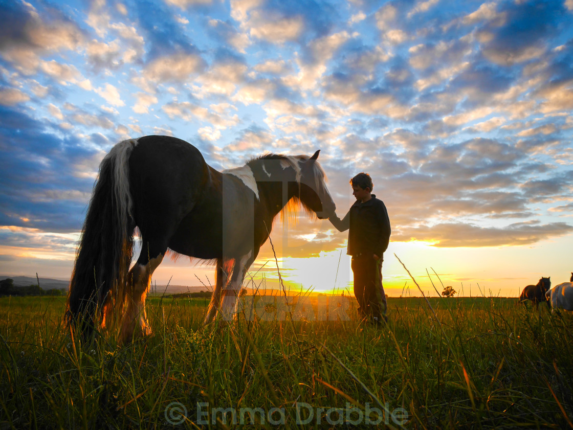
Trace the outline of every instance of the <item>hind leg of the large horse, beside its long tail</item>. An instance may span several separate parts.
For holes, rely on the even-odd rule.
[[[134,267],[129,270],[129,281],[125,291],[127,307],[123,314],[120,342],[129,340],[134,334],[143,336],[151,334],[151,328],[147,324],[145,301],[149,290],[151,274],[163,261],[166,249],[167,247],[144,242],[138,261]]]

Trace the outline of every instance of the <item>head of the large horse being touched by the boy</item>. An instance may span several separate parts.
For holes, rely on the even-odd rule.
[[[317,161],[320,149],[312,157],[301,158],[299,199],[305,207],[315,212],[317,218],[327,219],[336,209],[330,192],[326,187],[326,175]]]

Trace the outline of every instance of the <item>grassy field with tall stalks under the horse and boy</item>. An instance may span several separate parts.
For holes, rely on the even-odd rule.
[[[516,301],[202,327],[205,299],[152,297],[151,337],[83,346],[63,298],[1,298],[0,429],[573,428],[573,318]]]

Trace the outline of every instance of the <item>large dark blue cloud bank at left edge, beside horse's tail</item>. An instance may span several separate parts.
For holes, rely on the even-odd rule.
[[[13,108],[0,106],[0,116],[0,226],[79,230],[93,177],[79,179],[72,165],[93,149],[72,143],[61,130],[46,132],[44,121]]]

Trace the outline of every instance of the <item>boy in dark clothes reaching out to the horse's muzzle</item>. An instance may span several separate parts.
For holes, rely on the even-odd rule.
[[[347,254],[352,255],[358,314],[374,324],[381,324],[388,320],[382,286],[382,261],[390,241],[390,219],[382,200],[371,194],[373,185],[368,173],[358,173],[350,184],[356,203],[342,220],[336,214],[329,220],[338,231],[350,228]]]

